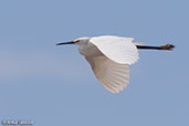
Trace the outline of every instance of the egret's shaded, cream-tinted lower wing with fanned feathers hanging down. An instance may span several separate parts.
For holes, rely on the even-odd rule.
[[[105,55],[85,56],[87,62],[103,86],[112,93],[123,91],[129,83],[127,64],[118,64],[108,60]]]

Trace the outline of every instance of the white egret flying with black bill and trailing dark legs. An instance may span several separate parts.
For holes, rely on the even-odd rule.
[[[172,50],[175,48],[172,44],[161,46],[144,45],[134,42],[134,38],[115,35],[78,38],[56,45],[65,44],[78,45],[78,52],[91,64],[97,80],[112,93],[119,93],[127,87],[129,83],[128,65],[138,61],[138,49]]]

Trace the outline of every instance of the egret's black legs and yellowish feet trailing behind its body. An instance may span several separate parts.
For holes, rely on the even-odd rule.
[[[148,45],[136,45],[137,49],[147,49],[147,50],[172,50],[175,45],[172,44],[166,44],[161,46],[148,46]]]

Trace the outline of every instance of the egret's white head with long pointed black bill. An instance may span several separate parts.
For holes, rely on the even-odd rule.
[[[82,45],[82,44],[86,44],[88,41],[90,41],[91,38],[78,38],[78,39],[75,39],[74,41],[71,41],[71,42],[61,42],[61,43],[57,43],[56,45],[63,45],[63,44],[77,44],[77,45]]]

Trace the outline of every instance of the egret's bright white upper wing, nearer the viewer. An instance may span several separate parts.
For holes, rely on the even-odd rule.
[[[138,60],[138,50],[133,38],[103,35],[92,38],[91,43],[109,60],[120,64],[133,64]]]

